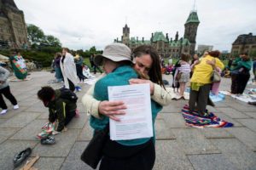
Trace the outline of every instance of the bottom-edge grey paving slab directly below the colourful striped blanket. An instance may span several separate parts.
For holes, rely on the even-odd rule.
[[[227,160],[222,154],[194,155],[188,156],[195,170],[238,170],[238,168]]]

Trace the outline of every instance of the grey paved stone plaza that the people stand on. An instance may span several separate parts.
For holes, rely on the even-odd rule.
[[[91,169],[80,161],[80,155],[92,135],[80,99],[80,117],[73,119],[67,132],[55,136],[56,144],[42,145],[35,138],[48,118],[48,110],[37,99],[37,92],[54,79],[54,74],[32,72],[30,77],[30,81],[10,82],[20,109],[14,111],[6,99],[9,111],[0,116],[0,169],[13,169],[15,154],[27,147],[32,148],[32,157],[40,156],[34,165],[40,170]],[[51,85],[54,88],[61,86]],[[88,88],[89,85],[82,85],[79,98]],[[227,89],[230,89],[230,79],[224,79],[221,85],[221,90]],[[187,102],[173,100],[171,105],[164,107],[155,122],[155,170],[256,169],[255,106],[226,97],[223,102],[216,103],[215,108],[207,108],[235,126],[199,129],[185,126],[180,111]]]

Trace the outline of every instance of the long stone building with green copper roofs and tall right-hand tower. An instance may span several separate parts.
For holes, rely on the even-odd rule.
[[[172,39],[168,33],[164,35],[162,31],[156,31],[151,34],[150,40],[145,40],[144,37],[142,39],[138,37],[130,38],[130,28],[125,24],[121,40],[116,38],[114,42],[125,43],[131,49],[142,44],[150,44],[164,57],[179,57],[182,53],[195,54],[195,39],[199,23],[197,12],[193,10],[190,12],[189,18],[184,25],[185,31],[183,37],[179,38],[178,32],[176,32],[175,38]]]

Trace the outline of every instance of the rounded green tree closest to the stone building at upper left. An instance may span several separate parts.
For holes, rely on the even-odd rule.
[[[32,45],[39,45],[42,40],[44,40],[44,31],[42,31],[38,26],[29,24],[26,26],[28,40]]]

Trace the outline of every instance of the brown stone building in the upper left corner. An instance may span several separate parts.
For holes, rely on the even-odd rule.
[[[0,48],[27,48],[23,12],[14,0],[0,0]]]

